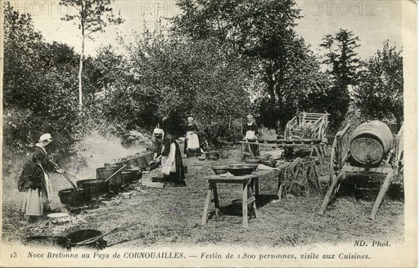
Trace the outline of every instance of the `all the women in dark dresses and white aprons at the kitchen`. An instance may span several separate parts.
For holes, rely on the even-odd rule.
[[[198,127],[193,123],[193,118],[188,118],[185,129],[184,154],[200,154],[200,141]],[[247,116],[247,122],[243,125],[244,140],[254,140],[258,135],[258,126],[251,115]],[[177,139],[165,133],[163,128],[154,128],[154,165],[161,168],[163,177],[180,185],[186,185],[185,168],[182,161]],[[38,143],[35,144],[29,160],[24,163],[18,189],[24,192],[22,211],[28,221],[35,221],[38,216],[45,212],[54,211],[50,207],[52,200],[49,172],[64,173],[47,155],[45,147],[52,142],[52,135],[45,133],[41,135]],[[257,144],[251,144],[250,149],[258,155]]]

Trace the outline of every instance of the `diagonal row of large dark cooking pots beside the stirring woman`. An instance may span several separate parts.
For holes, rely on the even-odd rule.
[[[82,207],[91,198],[98,198],[109,191],[117,192],[123,186],[132,184],[136,179],[141,178],[142,170],[148,167],[152,161],[154,152],[148,151],[120,158],[118,161],[105,163],[104,168],[96,169],[96,179],[82,179],[76,181],[77,188],[68,188],[58,192],[62,204],[67,207]],[[125,167],[124,167],[125,165]],[[120,168],[124,169],[117,174]],[[111,175],[113,176],[108,179]]]

